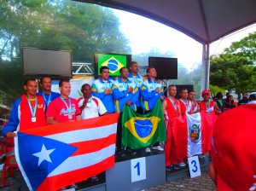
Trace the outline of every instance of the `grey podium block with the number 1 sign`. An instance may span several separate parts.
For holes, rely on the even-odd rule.
[[[138,191],[164,183],[165,153],[120,161],[106,171],[107,191]]]

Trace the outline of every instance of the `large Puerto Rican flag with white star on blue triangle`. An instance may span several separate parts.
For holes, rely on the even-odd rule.
[[[19,131],[15,157],[30,190],[57,190],[114,165],[117,113]]]

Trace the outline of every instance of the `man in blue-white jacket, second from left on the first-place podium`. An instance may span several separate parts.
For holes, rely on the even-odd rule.
[[[128,79],[129,71],[127,67],[122,67],[120,69],[120,77],[113,82],[113,98],[115,103],[115,112],[119,114],[119,121],[117,127],[117,138],[116,138],[116,147],[119,152],[119,155],[125,156],[124,151],[121,149],[122,141],[122,110],[126,105],[130,106],[133,110],[137,110],[136,103],[138,101],[139,92],[136,84],[131,82]],[[136,152],[129,150],[132,154]]]

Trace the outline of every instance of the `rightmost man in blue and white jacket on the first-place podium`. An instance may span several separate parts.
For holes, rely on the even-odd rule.
[[[142,93],[142,107],[144,113],[149,113],[153,108],[158,99],[164,100],[164,89],[160,83],[157,82],[157,73],[154,67],[147,68],[148,79],[144,80],[141,87]],[[163,151],[164,149],[160,147],[159,143],[154,144],[153,149]],[[150,148],[145,149],[146,153],[150,153]]]

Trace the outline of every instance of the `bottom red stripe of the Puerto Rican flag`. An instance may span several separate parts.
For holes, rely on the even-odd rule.
[[[58,176],[48,177],[44,182],[38,187],[38,191],[55,191],[71,185],[76,182],[82,182],[89,177],[93,177],[106,171],[114,165],[114,155],[102,162],[91,165],[89,167],[79,169],[76,171],[69,171]]]

